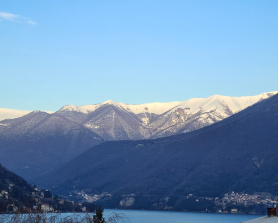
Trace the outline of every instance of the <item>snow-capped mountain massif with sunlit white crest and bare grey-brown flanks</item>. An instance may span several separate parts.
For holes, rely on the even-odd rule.
[[[245,97],[213,95],[183,102],[140,105],[109,100],[96,105],[68,105],[57,113],[105,140],[157,138],[202,128],[277,93]]]

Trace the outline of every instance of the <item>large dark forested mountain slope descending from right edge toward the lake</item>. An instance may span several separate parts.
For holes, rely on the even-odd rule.
[[[78,198],[109,193],[106,207],[183,209],[186,196],[278,187],[278,95],[222,121],[175,136],[96,145],[35,181]]]

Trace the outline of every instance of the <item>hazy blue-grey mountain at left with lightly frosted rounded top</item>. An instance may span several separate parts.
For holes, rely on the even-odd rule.
[[[101,142],[101,137],[59,114],[33,111],[0,121],[0,163],[30,179]]]

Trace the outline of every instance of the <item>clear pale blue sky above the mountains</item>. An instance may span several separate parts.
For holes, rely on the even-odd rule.
[[[0,0],[0,108],[278,90],[277,0]]]

